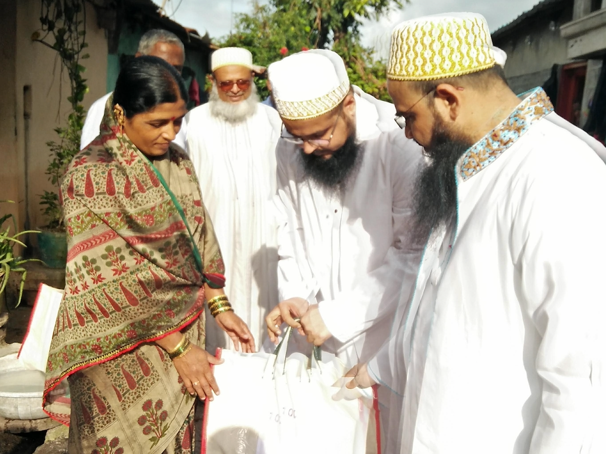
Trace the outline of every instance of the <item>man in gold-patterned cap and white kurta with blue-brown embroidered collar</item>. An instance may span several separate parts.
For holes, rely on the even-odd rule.
[[[457,56],[438,30],[476,58],[416,65],[417,51]],[[388,452],[606,452],[606,244],[591,234],[606,223],[606,150],[541,88],[509,90],[479,15],[404,22],[390,54],[407,135],[436,165],[468,146],[451,154],[452,215],[434,218],[396,335],[348,386],[404,396]]]

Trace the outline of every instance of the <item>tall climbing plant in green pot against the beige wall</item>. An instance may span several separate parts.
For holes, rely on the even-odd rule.
[[[55,128],[59,140],[49,140],[46,144],[51,152],[46,169],[53,191],[44,191],[40,205],[48,222],[38,235],[38,249],[42,261],[50,268],[64,268],[67,261],[67,234],[62,219],[59,191],[61,179],[73,157],[80,151],[80,137],[84,126],[85,110],[82,107],[88,87],[82,77],[85,68],[80,64],[87,59],[83,53],[88,47],[85,42],[84,0],[41,0],[41,27],[32,35],[32,40],[52,48],[59,54],[61,73],[67,71],[70,81],[70,102],[72,111],[67,117],[67,126]]]

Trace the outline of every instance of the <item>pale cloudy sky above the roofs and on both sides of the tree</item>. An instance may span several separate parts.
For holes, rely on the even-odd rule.
[[[154,0],[161,5],[164,0]],[[264,2],[264,0],[261,0]],[[391,28],[399,22],[430,14],[454,11],[480,13],[494,31],[508,24],[539,0],[411,0],[400,11],[392,12],[379,22],[364,25],[364,44],[377,48],[378,54],[387,56]],[[195,28],[202,35],[206,31],[211,38],[227,35],[231,28],[232,11],[246,13],[251,10],[251,0],[166,0],[165,12],[171,19],[185,27]]]

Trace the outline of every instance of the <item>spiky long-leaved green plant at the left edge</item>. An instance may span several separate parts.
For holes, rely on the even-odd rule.
[[[0,203],[15,203],[12,200],[0,200]],[[5,228],[5,223],[8,223],[8,226]],[[12,225],[11,225],[12,224]],[[11,232],[11,227],[13,228],[13,232]],[[19,273],[21,274],[21,283],[19,284],[19,296],[13,304],[13,309],[19,306],[21,303],[21,297],[23,295],[23,286],[25,283],[25,277],[27,277],[27,270],[23,265],[27,262],[35,261],[35,258],[22,258],[15,256],[15,246],[20,245],[25,247],[25,244],[21,242],[18,238],[21,235],[25,235],[28,233],[38,233],[35,230],[25,230],[22,232],[18,232],[17,223],[15,222],[15,217],[12,214],[7,213],[0,216],[0,298],[4,300],[4,306],[7,309],[9,305],[6,304],[5,301],[5,289],[8,284],[8,280],[10,279],[11,273]],[[1,312],[1,305],[0,305]]]

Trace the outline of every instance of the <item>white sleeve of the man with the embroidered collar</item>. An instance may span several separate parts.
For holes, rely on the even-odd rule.
[[[535,163],[541,173],[529,178],[512,228],[519,300],[541,338],[531,454],[606,452],[606,243],[591,235],[606,225],[596,200],[606,166],[575,145]]]

